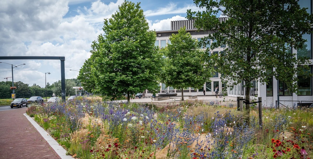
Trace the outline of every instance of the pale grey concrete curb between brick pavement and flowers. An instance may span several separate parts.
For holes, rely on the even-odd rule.
[[[33,124],[33,126],[37,129],[40,135],[49,143],[49,145],[54,149],[54,151],[61,157],[62,159],[73,159],[72,156],[66,155],[66,150],[59,145],[57,141],[52,138],[48,132],[44,130],[44,128],[40,127],[37,122],[35,122],[31,117],[29,117],[26,113],[24,116],[28,119],[28,121]]]

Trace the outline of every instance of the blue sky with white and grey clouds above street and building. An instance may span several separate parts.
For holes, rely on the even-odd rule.
[[[77,70],[91,53],[91,43],[103,34],[103,21],[124,0],[16,0],[0,1],[0,56],[64,56],[65,78],[77,78]],[[187,9],[198,11],[193,0],[134,0],[151,30],[170,30],[171,21],[186,20]],[[61,80],[60,60],[0,60],[13,68],[14,82],[45,87]],[[11,65],[0,63],[0,81],[12,77]],[[50,72],[51,74],[45,74]],[[12,78],[8,78],[12,81]]]

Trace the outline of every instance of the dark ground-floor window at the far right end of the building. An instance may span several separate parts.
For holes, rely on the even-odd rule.
[[[311,73],[312,66],[310,66],[309,70],[305,70],[307,73]],[[298,91],[299,96],[311,96],[312,95],[312,78],[305,76],[298,76]]]

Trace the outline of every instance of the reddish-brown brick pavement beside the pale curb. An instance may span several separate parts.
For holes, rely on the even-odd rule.
[[[0,112],[0,159],[60,159],[23,115],[26,109]]]

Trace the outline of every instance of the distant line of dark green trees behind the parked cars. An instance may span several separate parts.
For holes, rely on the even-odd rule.
[[[75,95],[75,89],[73,87],[79,86],[80,80],[78,79],[66,79],[65,80],[65,94],[66,95]],[[0,99],[7,99],[11,98],[12,90],[10,89],[12,87],[12,82],[7,81],[1,81],[0,82]],[[32,86],[29,86],[26,83],[23,83],[21,81],[14,82],[15,94],[16,98],[29,98],[32,96],[45,96],[45,87],[40,87],[34,83]],[[47,82],[47,97],[51,97],[52,94],[55,94],[56,96],[61,96],[61,81],[54,82],[53,84],[50,84]]]

